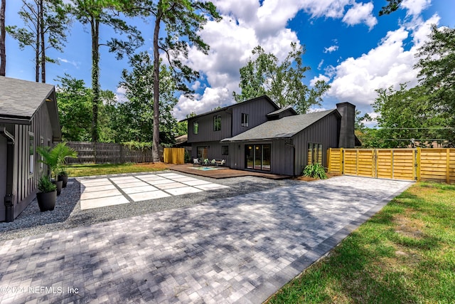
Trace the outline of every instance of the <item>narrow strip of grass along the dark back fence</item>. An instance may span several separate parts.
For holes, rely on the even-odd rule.
[[[91,175],[155,172],[168,169],[168,165],[162,162],[141,164],[70,164],[65,170],[70,177],[88,177]]]

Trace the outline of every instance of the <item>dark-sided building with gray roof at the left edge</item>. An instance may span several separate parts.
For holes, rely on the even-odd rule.
[[[55,87],[0,76],[0,221],[13,221],[31,203],[47,173],[36,147],[60,141]]]

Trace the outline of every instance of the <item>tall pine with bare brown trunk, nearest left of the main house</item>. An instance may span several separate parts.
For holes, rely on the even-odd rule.
[[[207,21],[220,21],[216,7],[210,1],[195,0],[117,0],[112,2],[124,6],[130,14],[138,11],[144,16],[154,16],[154,142],[152,157],[159,162],[159,100],[160,100],[160,55],[164,55],[171,66],[171,75],[176,90],[184,94],[193,91],[188,83],[196,80],[199,73],[184,63],[189,48],[194,47],[207,54],[209,46],[199,33]],[[163,28],[164,26],[164,28]],[[160,54],[161,53],[161,54]]]

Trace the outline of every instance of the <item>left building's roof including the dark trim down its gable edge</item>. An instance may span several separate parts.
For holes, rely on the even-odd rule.
[[[0,76],[0,122],[30,125],[33,115],[43,103],[49,111],[54,137],[61,137],[55,87]]]

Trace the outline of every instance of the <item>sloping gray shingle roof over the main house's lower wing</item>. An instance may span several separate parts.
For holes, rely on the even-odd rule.
[[[317,122],[326,115],[336,110],[326,110],[312,112],[309,114],[293,115],[283,117],[280,120],[270,120],[262,125],[253,127],[239,135],[222,140],[223,142],[238,142],[242,140],[273,140],[277,138],[287,138],[296,135],[301,130],[306,129],[314,122]]]

